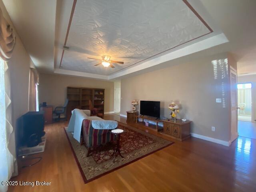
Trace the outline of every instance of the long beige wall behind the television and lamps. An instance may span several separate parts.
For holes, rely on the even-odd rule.
[[[193,121],[192,133],[229,141],[230,91],[226,58],[226,53],[218,54],[122,79],[121,114],[126,115],[131,109],[133,99],[153,100],[161,102],[161,116],[168,118],[170,101],[179,100],[182,108],[178,118]],[[216,98],[222,98],[223,102],[216,103]],[[211,131],[211,126],[216,127],[215,132]]]

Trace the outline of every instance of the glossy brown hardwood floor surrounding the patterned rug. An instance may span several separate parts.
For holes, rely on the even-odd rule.
[[[118,115],[105,115],[126,123]],[[22,168],[14,181],[51,182],[50,186],[10,186],[9,191],[67,192],[165,192],[256,191],[256,140],[239,137],[230,147],[189,138],[84,184],[63,127],[46,125],[46,149],[42,160]],[[144,126],[130,123],[142,130]],[[163,136],[155,131],[152,134]]]

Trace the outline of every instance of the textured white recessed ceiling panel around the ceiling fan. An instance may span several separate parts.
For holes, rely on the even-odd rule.
[[[78,0],[61,66],[109,75],[209,32],[182,0]],[[124,64],[87,58],[102,55]]]

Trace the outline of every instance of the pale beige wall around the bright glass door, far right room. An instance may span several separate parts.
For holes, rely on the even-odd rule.
[[[238,83],[252,83],[252,122],[256,120],[256,75],[238,76]]]

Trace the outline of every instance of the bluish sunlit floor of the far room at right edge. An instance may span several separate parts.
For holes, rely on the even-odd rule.
[[[238,135],[256,139],[256,123],[238,121]]]

